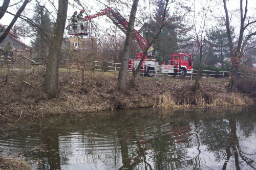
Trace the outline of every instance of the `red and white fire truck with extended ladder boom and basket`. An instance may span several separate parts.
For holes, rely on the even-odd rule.
[[[123,16],[121,16],[120,13],[114,11],[112,8],[106,8],[104,10],[101,10],[101,12],[98,12],[94,15],[86,16],[84,18],[78,18],[77,27],[68,27],[68,34],[75,36],[88,35],[88,21],[101,15],[108,16],[113,21],[113,23],[126,34],[128,29],[127,20]],[[69,26],[72,26],[71,19],[69,20]],[[133,31],[133,40],[142,52],[145,51],[145,49],[148,47],[148,42],[136,30]],[[179,74],[180,76],[185,76],[186,73],[192,73],[193,61],[191,54],[172,54],[172,57],[170,61],[168,61],[168,63],[159,65],[159,63],[156,62],[156,59],[151,59],[152,57],[155,57],[153,55],[153,52],[153,46],[151,46],[147,50],[147,54],[142,63],[140,70],[141,75],[153,77],[157,72],[159,72],[166,73],[168,75]],[[129,60],[129,71],[131,71],[133,68],[137,68],[142,56],[143,53],[138,53],[137,58]]]

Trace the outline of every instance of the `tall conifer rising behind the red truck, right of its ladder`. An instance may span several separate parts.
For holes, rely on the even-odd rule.
[[[162,60],[170,60],[172,53],[184,52],[182,50],[183,42],[188,41],[189,39],[187,32],[191,29],[191,27],[186,25],[184,20],[185,13],[182,13],[180,8],[185,9],[183,12],[189,11],[187,7],[182,6],[181,4],[177,5],[175,3],[172,10],[167,8],[164,28],[154,42],[154,48],[157,51],[157,56]],[[159,30],[158,22],[162,18],[163,11],[164,1],[156,0],[155,22],[153,23],[152,28],[153,32]]]

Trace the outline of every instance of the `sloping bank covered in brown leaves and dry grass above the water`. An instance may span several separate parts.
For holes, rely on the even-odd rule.
[[[48,100],[42,90],[44,70],[0,72],[0,126],[47,115],[88,113],[143,107],[194,107],[242,105],[253,100],[244,94],[227,90],[226,79],[200,81],[194,92],[194,81],[173,78],[138,77],[136,86],[122,94],[116,90],[118,73],[59,73],[59,98]]]

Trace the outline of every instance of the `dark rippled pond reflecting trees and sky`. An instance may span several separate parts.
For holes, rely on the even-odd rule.
[[[256,106],[100,112],[26,127],[0,131],[0,154],[33,169],[256,168]]]

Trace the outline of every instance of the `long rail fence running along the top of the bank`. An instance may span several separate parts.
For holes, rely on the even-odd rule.
[[[37,61],[37,60],[35,60]],[[41,61],[41,60],[38,60]],[[38,64],[46,64],[45,62],[43,63],[30,63],[29,61],[25,60],[4,60],[0,62],[0,68],[22,68],[26,69],[28,65],[38,65]],[[155,78],[166,78],[166,77],[174,77],[174,78],[181,78],[182,76],[180,74],[167,74],[167,73],[162,73],[161,71],[161,65],[154,66],[155,70],[151,72],[152,75],[154,75]],[[114,63],[114,62],[101,62],[101,61],[86,61],[86,60],[69,60],[69,59],[61,59],[59,63],[59,68],[67,68],[69,70],[71,69],[78,69],[80,71],[82,70],[97,70],[97,71],[119,71],[121,68],[121,63]],[[229,76],[229,71],[215,71],[215,70],[195,70],[193,69],[188,70],[190,73],[186,74],[184,77],[190,78],[191,80],[197,76],[197,74],[200,74],[201,78],[206,78],[206,79],[216,79],[216,78],[221,78],[223,79],[224,77]],[[132,72],[131,70],[129,72]],[[145,76],[143,72],[146,72],[146,70],[141,70],[140,75]],[[250,77],[250,78],[256,78],[256,74],[251,74],[251,73],[244,73],[244,72],[239,72],[240,77]]]

